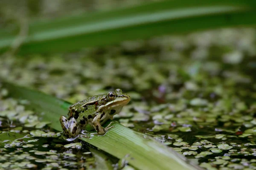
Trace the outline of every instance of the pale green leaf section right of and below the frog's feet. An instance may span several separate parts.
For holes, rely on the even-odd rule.
[[[155,139],[134,132],[133,130],[114,122],[115,126],[104,136],[97,136],[91,139],[80,138],[84,142],[93,143],[94,146],[113,156],[122,158],[141,170],[191,170],[191,165],[184,164],[180,156],[160,144]],[[161,160],[161,161],[159,161]],[[147,165],[142,164],[146,162]]]

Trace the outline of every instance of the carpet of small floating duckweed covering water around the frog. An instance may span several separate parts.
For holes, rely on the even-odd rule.
[[[255,169],[255,32],[156,37],[47,59],[1,56],[0,78],[71,102],[122,88],[132,101],[116,121],[208,170]],[[8,95],[0,88],[0,169],[89,169],[81,164],[95,161],[87,147],[63,141],[29,101]]]

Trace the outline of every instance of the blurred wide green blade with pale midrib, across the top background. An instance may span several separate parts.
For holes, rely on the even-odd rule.
[[[123,40],[229,26],[255,26],[256,2],[168,0],[113,11],[31,23],[20,54],[72,51]],[[6,32],[6,30],[0,30]],[[5,51],[15,40],[0,40]]]

